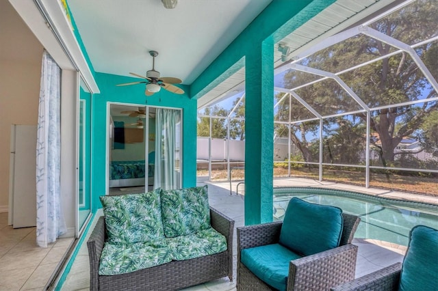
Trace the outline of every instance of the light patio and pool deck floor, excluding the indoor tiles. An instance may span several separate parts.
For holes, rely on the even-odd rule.
[[[200,182],[198,185],[203,185],[205,183]],[[214,206],[219,211],[224,212],[229,217],[235,220],[235,226],[239,227],[244,225],[244,197],[242,195],[229,195],[229,182],[214,182],[209,184],[209,203],[211,206]],[[318,182],[315,180],[309,179],[298,179],[298,178],[288,178],[281,180],[274,180],[274,186],[324,186],[335,189],[346,189],[346,186],[343,184],[336,184],[331,182]],[[237,182],[233,182],[232,189],[236,189]],[[352,189],[349,186],[349,189]],[[355,191],[364,191],[370,193],[372,195],[380,195],[380,196],[392,196],[394,192],[392,191],[384,191],[379,189],[365,189],[363,187],[353,187],[356,189],[352,189]],[[243,189],[241,186],[240,189]],[[233,192],[235,194],[235,192]],[[433,197],[417,197],[417,195],[409,195],[403,194],[404,199],[420,199],[424,202],[429,202],[433,204],[438,204],[438,199]],[[415,196],[415,197],[414,197]],[[101,212],[96,214],[96,217],[99,217]],[[96,219],[94,219],[94,223]],[[94,225],[90,227],[92,230]],[[235,236],[236,237],[236,234]],[[86,238],[87,239],[87,238]],[[70,291],[70,290],[88,290],[90,286],[90,269],[88,262],[88,251],[86,249],[86,239],[84,243],[79,249],[79,253],[73,263],[73,266],[66,277],[66,281],[62,285],[62,290]],[[396,262],[402,262],[404,253],[406,251],[406,247],[394,245],[387,242],[382,242],[378,240],[364,240],[364,239],[355,239],[355,245],[359,246],[359,253],[357,258],[357,268],[356,268],[356,277],[361,277],[365,274],[372,273],[380,268],[385,266],[389,266]],[[234,255],[234,272],[235,270],[235,262],[237,260],[237,246],[234,243],[233,245],[233,253]],[[235,274],[234,274],[235,278]],[[210,281],[207,283],[203,283],[198,286],[186,288],[185,291],[228,291],[235,290],[235,279],[233,281],[229,281],[227,278],[222,278],[214,281]]]

